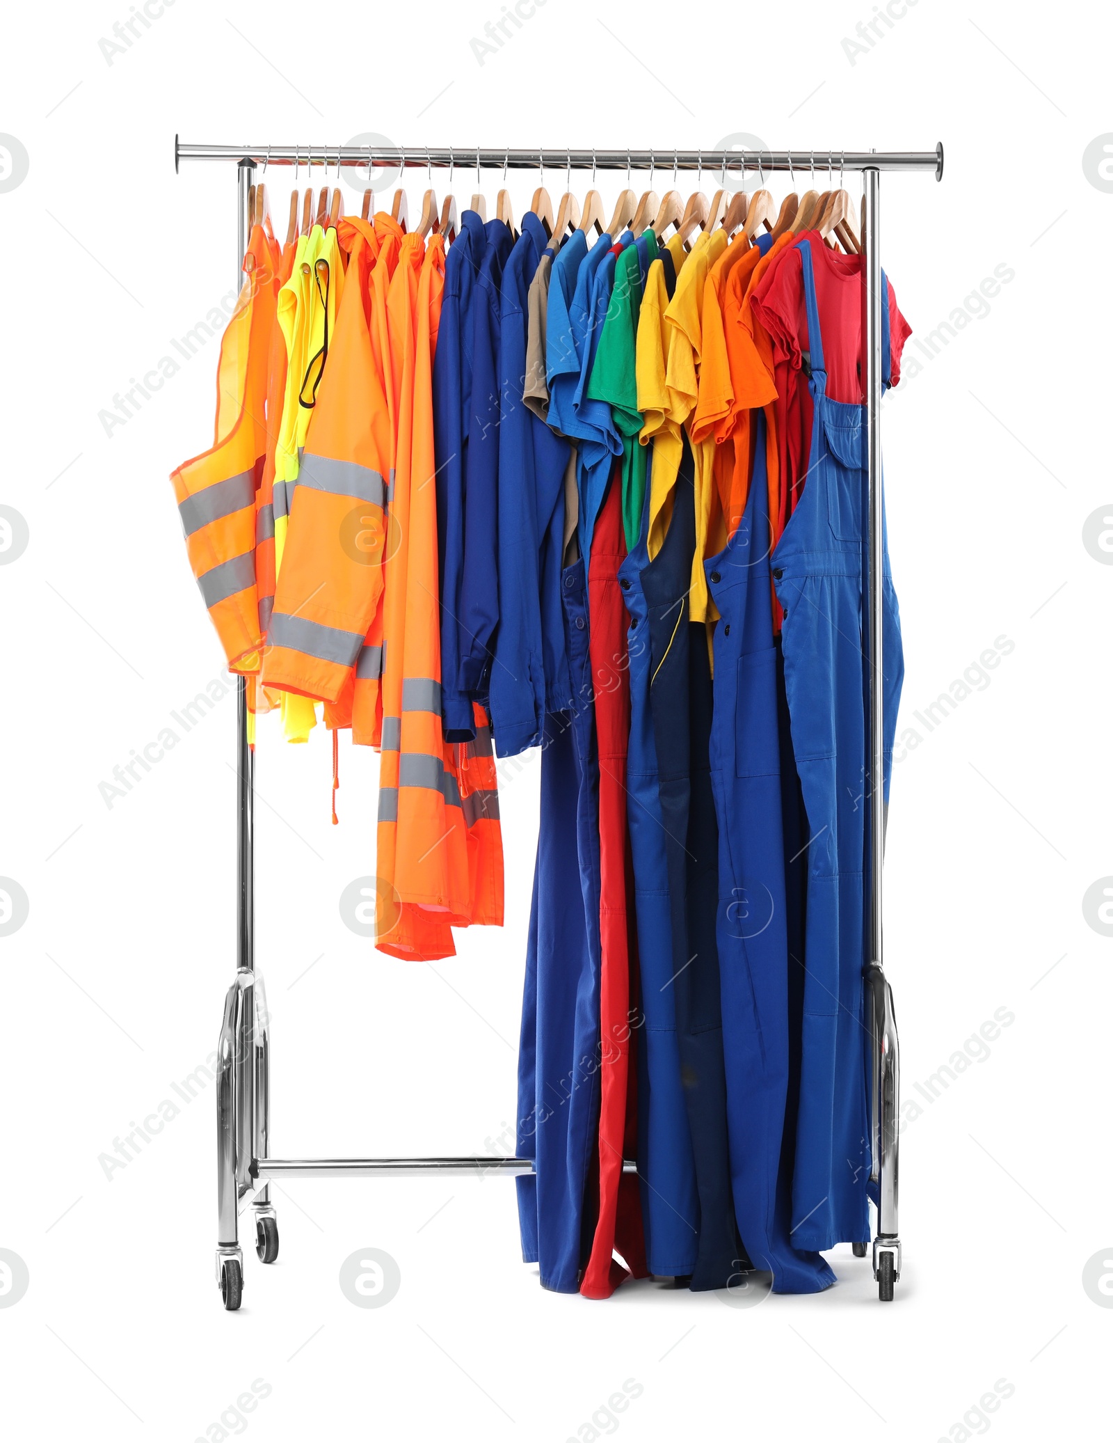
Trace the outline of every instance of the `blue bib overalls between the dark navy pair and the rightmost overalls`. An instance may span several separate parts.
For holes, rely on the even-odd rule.
[[[777,648],[770,592],[766,420],[757,413],[745,511],[705,561],[719,609],[711,779],[719,821],[717,938],[722,1049],[738,1229],[776,1293],[817,1293],[835,1281],[823,1258],[790,1237],[789,937],[781,840]],[[810,479],[809,479],[810,485]]]

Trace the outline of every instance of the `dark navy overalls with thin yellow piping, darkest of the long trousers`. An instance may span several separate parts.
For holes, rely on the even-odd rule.
[[[715,948],[718,827],[708,769],[711,665],[706,628],[688,619],[695,554],[693,473],[685,437],[672,521],[660,551],[642,571],[642,587],[649,610],[649,696],[668,861],[676,1040],[699,1198],[691,1287],[702,1291],[727,1287],[748,1263],[734,1222],[727,1134]]]

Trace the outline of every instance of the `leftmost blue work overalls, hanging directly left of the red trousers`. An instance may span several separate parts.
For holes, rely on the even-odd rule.
[[[541,831],[529,915],[518,1055],[518,1179],[522,1255],[556,1293],[580,1289],[595,1152],[600,1069],[598,760],[588,657],[587,571],[564,569],[571,711],[545,717]]]

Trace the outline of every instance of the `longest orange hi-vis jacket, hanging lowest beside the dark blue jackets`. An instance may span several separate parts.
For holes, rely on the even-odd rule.
[[[417,264],[421,261],[420,274]],[[388,313],[398,447],[383,563],[381,883],[378,947],[412,960],[451,955],[450,924],[502,922],[502,833],[490,730],[445,743],[441,730],[433,356],[444,294],[444,238],[402,241]]]

